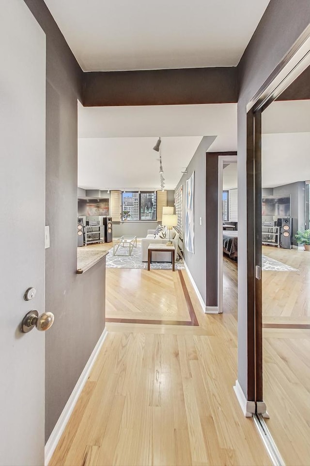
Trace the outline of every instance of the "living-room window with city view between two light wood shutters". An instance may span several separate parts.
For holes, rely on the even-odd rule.
[[[130,214],[129,221],[155,220],[156,221],[156,193],[122,193],[123,211]]]

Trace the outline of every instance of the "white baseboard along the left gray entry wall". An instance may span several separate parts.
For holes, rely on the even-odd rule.
[[[54,453],[57,444],[62,436],[62,433],[68,423],[68,420],[72,414],[72,411],[78,401],[78,397],[88,379],[88,376],[90,374],[90,371],[93,367],[93,363],[95,362],[98,353],[102,347],[102,344],[107,336],[107,330],[106,328],[104,331],[101,333],[99,340],[96,343],[96,346],[93,349],[92,354],[90,355],[89,360],[86,363],[86,366],[84,367],[81,375],[78,378],[78,382],[76,383],[76,386],[74,387],[68,401],[65,404],[65,407],[62,410],[62,414],[59,416],[59,419],[52,431],[52,433],[49,436],[49,439],[47,440],[46,446],[45,446],[45,465],[47,466],[48,463],[50,462],[50,459],[52,457],[52,454]]]

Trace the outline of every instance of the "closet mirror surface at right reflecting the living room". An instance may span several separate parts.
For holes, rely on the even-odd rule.
[[[307,76],[262,113],[263,399],[286,465],[310,458],[310,252],[295,237],[310,228]]]

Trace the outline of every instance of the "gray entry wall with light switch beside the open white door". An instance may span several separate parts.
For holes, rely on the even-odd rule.
[[[83,73],[43,0],[25,0],[46,33],[46,440],[105,326],[105,259],[77,275],[78,99]]]

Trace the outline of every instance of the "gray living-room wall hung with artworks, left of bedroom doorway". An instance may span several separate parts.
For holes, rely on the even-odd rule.
[[[191,276],[206,303],[206,152],[216,136],[204,136],[175,189],[183,185],[183,255]],[[185,247],[186,180],[195,172],[194,253]],[[200,225],[202,217],[202,225]]]

